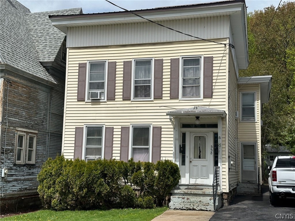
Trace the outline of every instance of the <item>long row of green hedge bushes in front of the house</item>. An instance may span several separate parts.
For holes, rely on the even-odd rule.
[[[43,206],[52,210],[152,208],[163,206],[180,179],[169,160],[128,162],[48,159],[37,180]]]

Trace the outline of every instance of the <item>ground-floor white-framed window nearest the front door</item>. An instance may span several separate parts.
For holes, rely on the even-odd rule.
[[[131,125],[130,158],[135,162],[151,160],[151,125]]]

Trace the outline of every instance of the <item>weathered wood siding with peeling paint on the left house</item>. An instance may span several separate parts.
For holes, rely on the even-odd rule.
[[[57,154],[61,154],[64,79],[58,77],[55,79],[59,84],[57,88],[50,89],[41,86],[41,84],[34,86],[25,80],[12,78],[12,85],[9,85],[8,88],[7,119],[7,83],[4,81],[2,88],[1,168],[3,168],[5,160],[5,167],[8,168],[9,173],[2,180],[3,197],[36,193],[37,174],[40,172],[42,164],[48,157],[55,158]],[[35,164],[14,164],[17,132],[37,135]]]

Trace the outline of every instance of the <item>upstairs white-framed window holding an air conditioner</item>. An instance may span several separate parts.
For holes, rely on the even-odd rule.
[[[87,65],[87,100],[106,100],[107,61],[89,61]]]

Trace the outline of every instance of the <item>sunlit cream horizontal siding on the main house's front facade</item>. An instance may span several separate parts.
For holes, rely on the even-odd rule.
[[[218,41],[226,43],[227,39],[218,39]],[[63,143],[63,154],[65,158],[73,159],[76,126],[83,126],[84,124],[105,124],[107,127],[113,126],[113,158],[119,159],[121,126],[152,124],[153,126],[162,126],[161,159],[172,160],[173,127],[166,113],[172,110],[171,108],[182,109],[195,105],[225,110],[226,97],[224,94],[227,85],[226,52],[227,50],[223,44],[200,40],[161,44],[138,44],[132,46],[70,48],[68,50],[67,87],[65,91]],[[213,98],[204,98],[198,101],[170,99],[170,59],[188,55],[214,57]],[[123,61],[146,57],[163,59],[163,99],[155,99],[153,101],[122,100]],[[78,63],[90,60],[117,62],[116,100],[106,102],[77,101]]]

